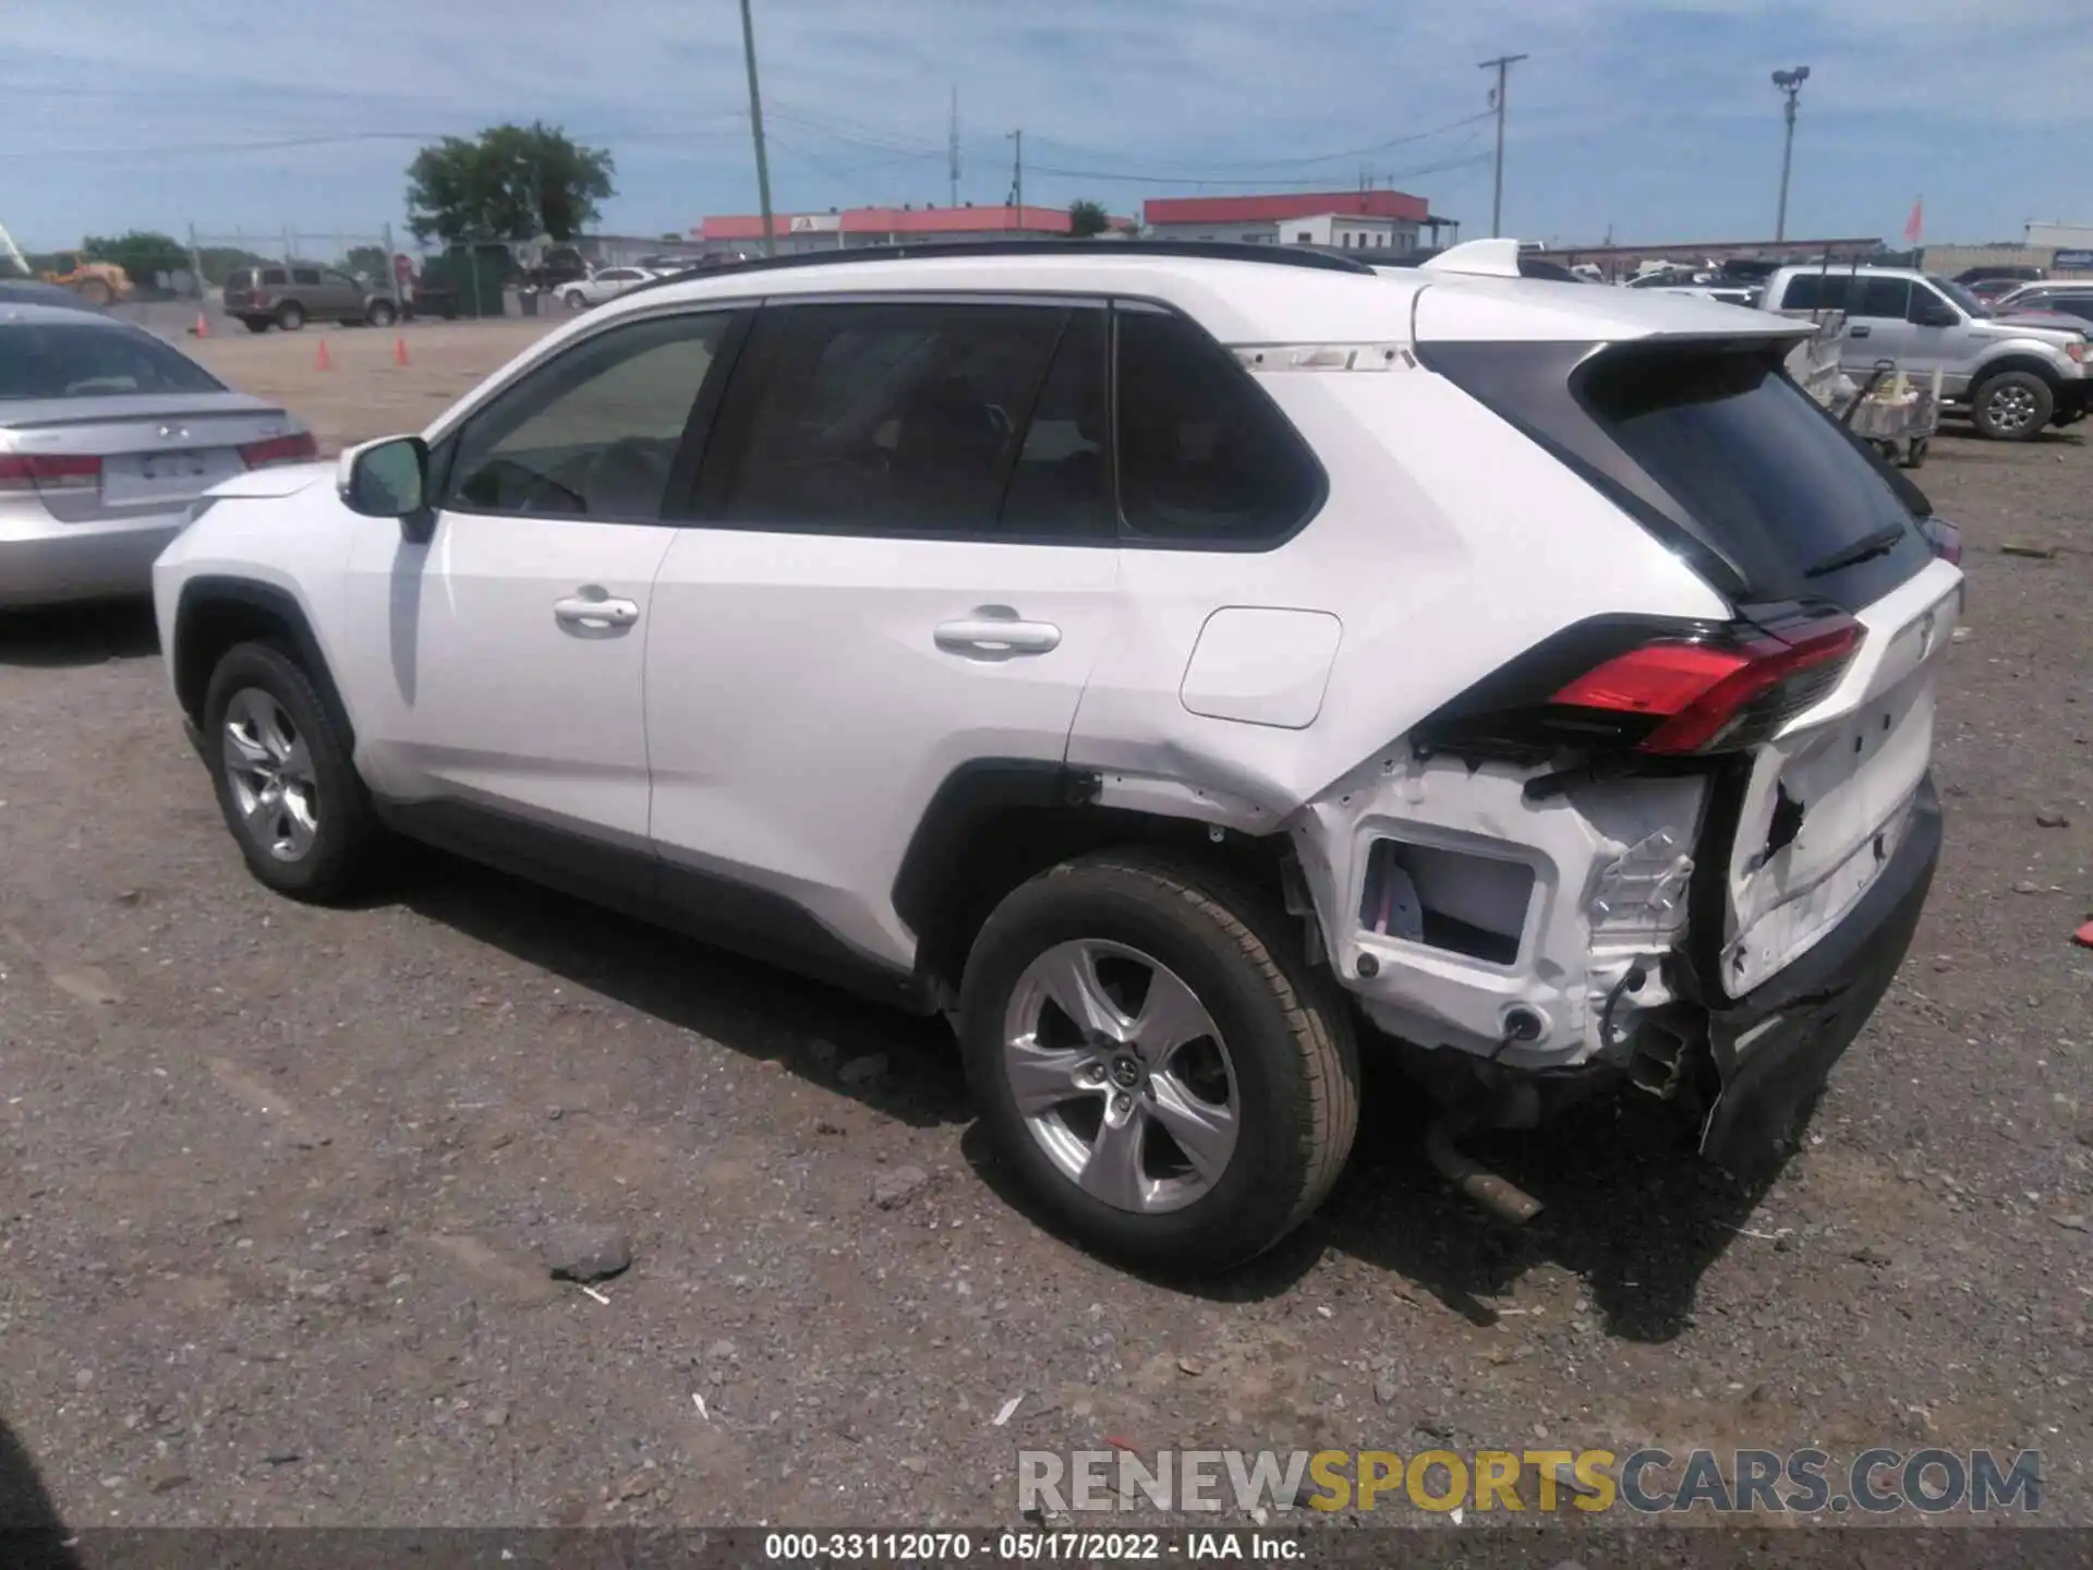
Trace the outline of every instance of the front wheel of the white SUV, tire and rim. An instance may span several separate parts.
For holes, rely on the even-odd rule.
[[[228,733],[232,726],[241,741]],[[312,678],[283,649],[241,643],[218,661],[203,695],[203,756],[218,808],[255,879],[312,904],[335,904],[362,888],[385,829],[345,737],[327,718]],[[234,768],[234,758],[278,775],[289,789],[270,800],[257,791],[257,775]],[[253,814],[249,804],[257,804]]]

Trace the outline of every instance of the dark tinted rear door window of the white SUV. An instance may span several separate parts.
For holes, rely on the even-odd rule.
[[[1055,306],[772,306],[714,509],[745,528],[992,536],[1072,314]],[[1088,312],[1097,314],[1097,312]],[[737,377],[735,400],[741,400]],[[1063,404],[1061,423],[1084,417]],[[1095,412],[1088,417],[1095,429]],[[1093,435],[1095,442],[1095,435]],[[1042,435],[1028,461],[1080,456]],[[1034,492],[1026,484],[1026,504]],[[1036,515],[1036,513],[1034,513]]]

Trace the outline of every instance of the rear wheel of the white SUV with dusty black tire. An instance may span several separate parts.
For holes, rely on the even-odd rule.
[[[1097,1053],[1057,1003],[1030,1013],[1044,994],[1036,965],[1072,952],[1095,959],[1086,973],[1136,1028],[1162,1013],[1151,1015],[1153,999],[1176,999],[1180,1022],[1212,1032],[1183,1034],[1180,1024],[1170,1036],[1183,1034],[1183,1045],[1151,1040],[1145,1068],[1143,1059],[1128,1068],[1134,1053],[1124,1049]],[[1139,1001],[1111,990],[1143,967]],[[1178,988],[1153,990],[1170,984]],[[1185,996],[1203,1019],[1183,1013]],[[1049,1049],[1011,1045],[1013,1034],[1044,1038]],[[1067,1042],[1072,1051],[1055,1051]],[[1358,1055],[1335,984],[1300,955],[1287,917],[1268,900],[1189,858],[1105,852],[1011,892],[967,957],[961,1055],[982,1122],[1032,1199],[1099,1254],[1168,1271],[1224,1271],[1268,1250],[1323,1204],[1358,1130]],[[1042,1116],[1044,1097],[1059,1097],[1063,1066],[1078,1059],[1086,1068],[1067,1070],[1067,1097]],[[1013,1078],[1023,1061],[1036,1091],[1030,1116]],[[1206,1170],[1174,1132],[1201,1126],[1185,1118],[1193,1097],[1203,1114],[1233,1112],[1224,1149],[1201,1135]],[[1130,1179],[1113,1185],[1099,1151],[1118,1103],[1141,1132],[1118,1143],[1132,1160],[1120,1168]],[[1086,1126],[1095,1126],[1088,1139]],[[1157,1126],[1170,1137],[1157,1141]],[[1086,1187],[1072,1164],[1101,1176]],[[1113,1187],[1116,1199],[1095,1191]]]

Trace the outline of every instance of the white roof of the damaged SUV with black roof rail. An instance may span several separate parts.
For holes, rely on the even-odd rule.
[[[833,255],[833,260],[831,260]],[[1417,339],[1597,341],[1649,335],[1794,337],[1781,316],[1683,295],[1480,276],[1440,262],[1377,270],[1283,247],[1042,243],[950,245],[777,257],[676,274],[620,295],[605,314],[705,299],[885,293],[1111,293],[1197,316],[1226,343],[1409,343]],[[1423,304],[1430,297],[1430,304]],[[582,322],[573,324],[580,331]]]

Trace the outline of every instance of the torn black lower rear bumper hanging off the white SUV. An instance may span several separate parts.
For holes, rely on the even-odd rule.
[[[1831,1066],[1890,990],[1940,862],[1940,798],[1919,783],[1888,867],[1852,913],[1802,959],[1710,1017],[1720,1093],[1702,1153],[1750,1176],[1777,1162],[1823,1093]]]

